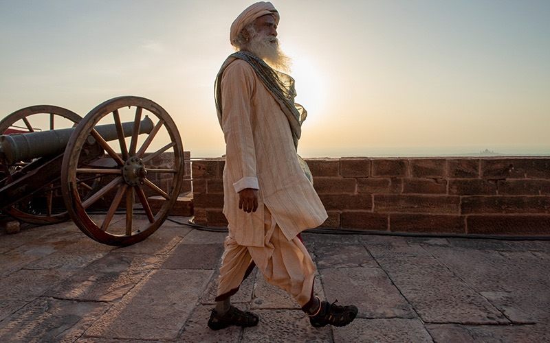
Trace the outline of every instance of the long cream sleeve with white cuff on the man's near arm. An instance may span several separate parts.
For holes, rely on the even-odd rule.
[[[237,193],[245,188],[259,189],[251,124],[253,73],[248,64],[232,63],[221,80],[226,163],[231,179],[236,180],[233,187]]]

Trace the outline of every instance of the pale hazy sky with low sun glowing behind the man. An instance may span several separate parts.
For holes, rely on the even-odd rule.
[[[274,0],[304,157],[550,154],[550,1]],[[225,152],[214,78],[243,0],[0,0],[0,118],[157,102]]]

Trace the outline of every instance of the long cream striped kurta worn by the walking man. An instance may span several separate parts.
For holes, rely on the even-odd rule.
[[[263,205],[287,239],[319,226],[327,212],[305,176],[288,119],[248,62],[236,59],[221,80],[226,156],[223,213],[236,242],[263,246]],[[239,209],[239,191],[259,189],[258,210]]]

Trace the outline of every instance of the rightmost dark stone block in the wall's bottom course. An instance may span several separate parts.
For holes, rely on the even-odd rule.
[[[468,215],[467,233],[550,235],[550,215]]]

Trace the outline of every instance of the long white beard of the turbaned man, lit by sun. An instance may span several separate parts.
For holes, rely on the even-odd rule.
[[[290,72],[292,60],[281,51],[279,40],[276,37],[258,34],[253,30],[250,34],[250,41],[246,45],[248,51],[264,60],[270,67],[287,73]]]

